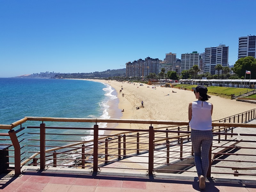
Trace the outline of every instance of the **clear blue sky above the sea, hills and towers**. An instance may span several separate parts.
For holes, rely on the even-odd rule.
[[[125,68],[256,35],[256,1],[0,0],[0,77]]]

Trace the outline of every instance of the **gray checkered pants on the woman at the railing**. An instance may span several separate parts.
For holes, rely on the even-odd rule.
[[[209,168],[209,150],[212,140],[212,130],[200,131],[191,129],[191,142],[194,149],[195,165],[198,177],[200,175],[206,177]]]

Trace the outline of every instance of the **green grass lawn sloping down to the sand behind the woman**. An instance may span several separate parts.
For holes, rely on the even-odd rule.
[[[175,87],[184,87],[184,84],[177,84]],[[191,89],[192,87],[196,87],[197,85],[188,85],[185,88]],[[239,95],[239,92],[246,92],[246,90],[251,91],[251,89],[247,88],[235,88],[235,87],[219,87],[219,86],[210,86],[207,87],[208,93],[214,94],[214,95],[223,95],[223,96],[231,96],[231,94]],[[256,98],[256,95],[255,95]]]

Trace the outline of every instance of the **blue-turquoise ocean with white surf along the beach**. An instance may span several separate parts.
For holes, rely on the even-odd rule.
[[[25,116],[35,117],[67,117],[67,118],[119,118],[115,113],[118,98],[117,92],[108,84],[76,79],[31,79],[31,78],[0,78],[0,124],[11,124]],[[113,114],[116,114],[113,116]],[[22,145],[38,142],[28,139],[36,138],[29,134],[33,129],[27,126],[40,126],[41,122],[26,122],[22,124],[25,133]],[[44,122],[46,126],[58,127],[93,127],[94,123]],[[107,123],[100,123],[104,128]],[[38,131],[38,130],[37,130]],[[7,130],[0,130],[7,132]],[[56,130],[47,130],[55,133]],[[67,136],[48,135],[47,139],[58,140],[88,140],[92,136],[77,136],[75,134],[90,134],[86,130],[59,130],[61,133],[74,134]],[[102,134],[103,132],[100,132]],[[2,141],[3,142],[3,141]],[[6,143],[6,141],[5,141]],[[53,142],[52,142],[53,143]],[[48,145],[52,145],[48,142]],[[58,143],[61,146],[62,143]],[[63,143],[64,144],[64,143]],[[67,144],[67,143],[65,143]],[[30,148],[34,150],[34,148]]]

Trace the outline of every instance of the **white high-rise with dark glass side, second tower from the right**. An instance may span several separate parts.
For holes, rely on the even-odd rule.
[[[204,73],[210,72],[212,75],[218,73],[215,66],[220,64],[228,67],[228,46],[206,47],[204,52]],[[221,71],[220,71],[221,74]]]

